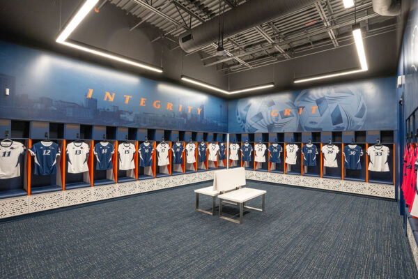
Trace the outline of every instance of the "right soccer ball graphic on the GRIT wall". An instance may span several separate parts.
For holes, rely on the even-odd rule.
[[[359,130],[366,120],[367,107],[359,89],[330,86],[302,91],[295,100],[303,107],[303,130]],[[315,112],[313,112],[313,108]]]

